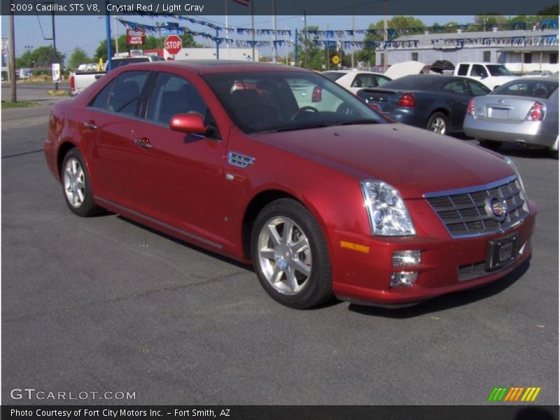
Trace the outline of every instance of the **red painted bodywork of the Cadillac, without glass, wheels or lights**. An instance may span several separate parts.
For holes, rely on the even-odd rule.
[[[131,71],[132,66],[134,70],[175,73],[195,85],[216,120],[220,138],[183,132],[187,127],[195,128],[193,132],[202,130],[202,119],[193,116],[177,117],[172,125],[181,130],[174,131],[87,108],[106,83]],[[479,286],[503,277],[528,257],[530,245],[505,271],[458,282],[458,265],[485,260],[490,239],[515,231],[520,243],[529,241],[536,207],[529,202],[531,214],[503,234],[451,239],[423,199],[425,193],[480,186],[513,175],[499,155],[399,124],[249,136],[235,126],[202,78],[204,73],[282,69],[304,71],[269,64],[154,62],[123,66],[78,97],[55,104],[45,141],[48,167],[59,180],[59,151],[73,144],[83,155],[99,205],[244,262],[249,262],[243,246],[248,204],[271,190],[291,195],[311,211],[323,229],[335,293],[364,302],[414,302]],[[84,123],[97,125],[97,129],[90,130]],[[134,139],[152,147],[141,147]],[[228,164],[230,151],[255,158],[254,164],[246,168]],[[363,179],[381,179],[398,188],[417,235],[371,235],[360,190]],[[341,240],[369,246],[370,253],[341,248]],[[390,289],[391,255],[409,249],[422,251],[416,284]]]

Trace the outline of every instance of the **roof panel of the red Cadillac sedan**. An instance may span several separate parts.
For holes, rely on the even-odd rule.
[[[223,59],[185,59],[150,63],[151,66],[172,66],[190,69],[197,73],[230,73],[232,71],[308,71],[300,67]],[[140,64],[131,64],[140,65]],[[146,63],[144,64],[146,65]]]

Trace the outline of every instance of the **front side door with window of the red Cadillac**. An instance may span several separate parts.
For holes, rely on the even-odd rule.
[[[188,234],[221,242],[220,206],[225,144],[216,132],[186,134],[169,129],[178,113],[197,112],[216,127],[195,85],[172,73],[158,73],[146,119],[134,127],[139,211]]]

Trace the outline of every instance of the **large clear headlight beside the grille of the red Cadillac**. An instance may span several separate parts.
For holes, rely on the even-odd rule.
[[[372,235],[416,235],[416,230],[400,194],[382,181],[361,181],[367,216]]]

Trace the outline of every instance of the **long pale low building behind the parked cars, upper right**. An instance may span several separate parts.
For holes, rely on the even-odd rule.
[[[558,29],[424,33],[399,36],[387,46],[377,48],[377,66],[445,59],[453,64],[498,62],[519,73],[558,71]]]

